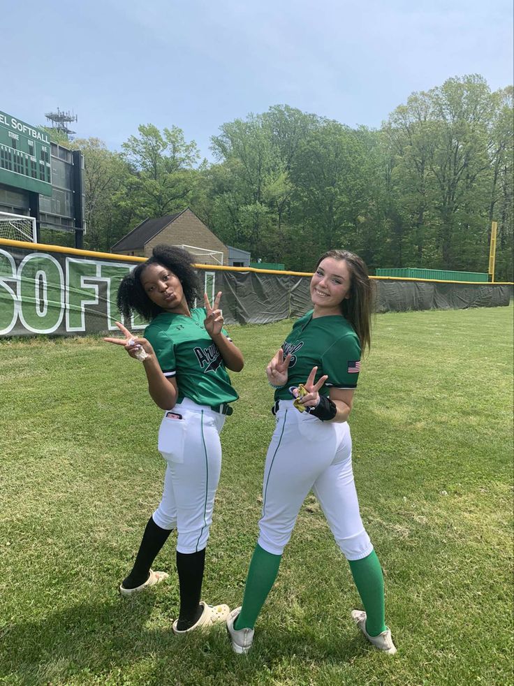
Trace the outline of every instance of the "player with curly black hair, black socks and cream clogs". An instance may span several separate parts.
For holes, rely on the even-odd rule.
[[[119,586],[128,596],[168,577],[151,569],[154,559],[177,529],[177,572],[180,611],[175,634],[223,621],[226,605],[200,601],[205,546],[212,522],[214,495],[221,470],[219,432],[237,393],[226,367],[240,372],[243,358],[223,329],[221,293],[211,307],[193,308],[198,277],[193,258],[178,247],[157,246],[152,257],[127,275],[118,291],[118,306],[149,321],[144,337],[133,336],[121,323],[122,345],[145,367],[152,400],[164,411],[159,451],[166,460],[161,503],[149,518],[133,569]]]

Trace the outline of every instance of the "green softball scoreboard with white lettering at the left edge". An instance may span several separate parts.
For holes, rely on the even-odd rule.
[[[0,183],[51,196],[50,152],[46,131],[0,112]]]

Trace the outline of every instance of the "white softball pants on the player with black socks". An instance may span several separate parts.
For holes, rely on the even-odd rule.
[[[182,419],[170,418],[170,413]],[[152,517],[161,529],[177,529],[179,553],[196,553],[207,545],[224,423],[224,415],[189,398],[164,413],[159,452],[166,460],[166,475],[163,497]]]

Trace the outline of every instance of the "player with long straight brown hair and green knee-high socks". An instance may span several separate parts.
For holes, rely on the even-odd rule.
[[[349,562],[362,610],[351,615],[379,650],[396,652],[384,619],[382,569],[362,525],[348,427],[360,356],[370,344],[372,284],[360,257],[321,256],[310,284],[314,309],[299,319],[267,366],[274,430],[264,470],[263,511],[242,607],[226,620],[233,650],[248,652],[302,502],[313,490]]]

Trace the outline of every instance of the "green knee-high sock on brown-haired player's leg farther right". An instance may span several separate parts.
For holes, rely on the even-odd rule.
[[[366,631],[369,636],[385,632],[385,607],[383,598],[383,574],[379,558],[373,550],[362,560],[348,560],[353,581],[366,611]]]

